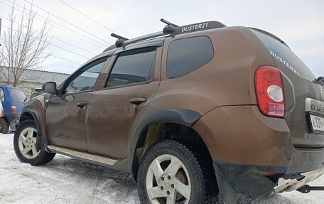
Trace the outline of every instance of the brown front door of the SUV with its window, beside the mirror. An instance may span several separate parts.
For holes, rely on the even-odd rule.
[[[94,92],[97,77],[107,57],[88,63],[71,75],[48,101],[45,131],[50,144],[87,151],[87,105]]]

